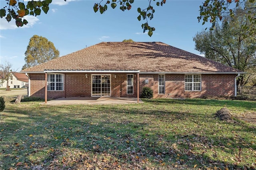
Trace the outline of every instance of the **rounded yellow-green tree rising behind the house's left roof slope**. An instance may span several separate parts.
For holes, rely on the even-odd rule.
[[[60,56],[60,51],[54,47],[51,41],[47,38],[33,35],[25,52],[25,64],[22,70],[38,64],[42,64],[46,61],[50,61]]]

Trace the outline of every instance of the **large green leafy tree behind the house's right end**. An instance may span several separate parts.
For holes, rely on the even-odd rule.
[[[197,33],[193,40],[195,49],[206,58],[248,72],[240,78],[239,83],[244,85],[252,81],[256,72],[256,39],[243,27],[249,20],[242,14],[244,9],[236,11],[234,17],[225,16],[222,25]]]

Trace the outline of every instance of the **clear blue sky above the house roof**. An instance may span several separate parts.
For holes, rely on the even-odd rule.
[[[3,8],[5,0],[0,0]],[[152,37],[143,33],[137,8],[146,8],[148,0],[134,0],[130,11],[122,12],[110,6],[104,14],[94,13],[93,5],[100,0],[53,0],[48,14],[26,16],[28,25],[17,27],[12,20],[0,19],[0,63],[8,61],[13,70],[20,71],[25,64],[24,53],[29,39],[40,35],[52,41],[60,56],[78,51],[102,41],[138,42],[161,41],[194,54],[193,37],[209,24],[198,23],[201,0],[167,0],[163,6],[153,2],[154,18],[149,25],[156,28]]]

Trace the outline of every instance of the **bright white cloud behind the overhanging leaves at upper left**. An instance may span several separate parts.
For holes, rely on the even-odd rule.
[[[28,21],[28,24],[23,25],[21,28],[32,27],[37,21],[39,21],[39,19],[36,18],[35,16],[26,16],[24,18]],[[9,23],[5,19],[1,19],[0,29],[16,29],[16,28],[18,27],[14,19],[12,19]]]

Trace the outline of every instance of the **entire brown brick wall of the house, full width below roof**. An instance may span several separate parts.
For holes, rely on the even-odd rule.
[[[64,91],[48,91],[48,98],[90,97],[91,74],[64,74]],[[116,75],[116,78],[114,77]],[[127,94],[127,74],[111,74],[112,97],[137,97],[137,74],[134,75],[134,94]],[[44,98],[45,74],[29,74],[30,95]],[[234,95],[234,78],[236,74],[202,74],[202,91],[190,92],[184,89],[184,74],[165,74],[165,94],[158,94],[158,74],[140,74],[140,95],[142,88],[148,86],[154,91],[154,98]],[[148,84],[145,84],[145,79]],[[65,92],[66,90],[66,92]]]

